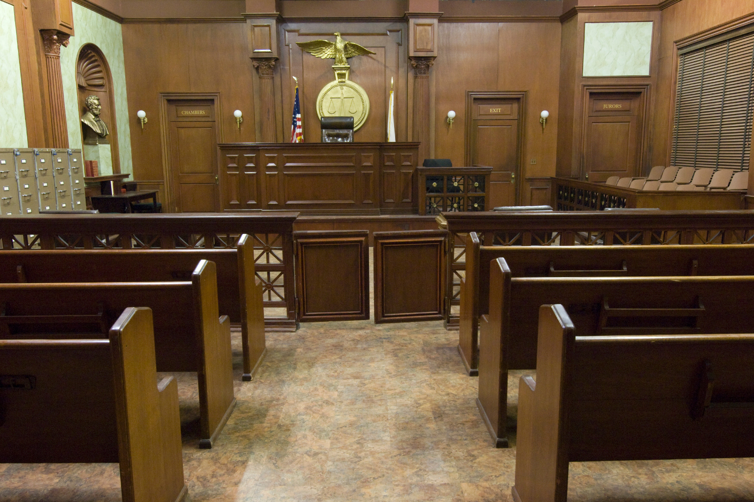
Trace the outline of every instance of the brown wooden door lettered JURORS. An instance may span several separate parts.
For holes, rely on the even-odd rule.
[[[638,176],[640,93],[590,93],[584,135],[584,178]]]

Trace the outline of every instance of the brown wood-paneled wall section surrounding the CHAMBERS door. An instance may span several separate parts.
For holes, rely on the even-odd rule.
[[[133,177],[163,179],[160,93],[219,93],[219,142],[256,141],[247,25],[238,23],[125,23],[123,47]],[[234,110],[244,123],[236,126]],[[136,111],[149,120],[141,128]],[[164,124],[167,126],[167,124]]]

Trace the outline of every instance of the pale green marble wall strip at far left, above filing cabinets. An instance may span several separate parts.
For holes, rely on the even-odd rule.
[[[13,5],[0,2],[0,148],[26,148],[21,66]]]

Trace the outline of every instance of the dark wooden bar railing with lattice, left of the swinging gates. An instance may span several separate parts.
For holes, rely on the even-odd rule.
[[[296,330],[293,221],[299,213],[29,214],[0,218],[3,249],[234,248],[253,237],[256,276],[264,286],[266,330]],[[124,277],[124,280],[127,280]],[[222,284],[221,284],[222,287]]]

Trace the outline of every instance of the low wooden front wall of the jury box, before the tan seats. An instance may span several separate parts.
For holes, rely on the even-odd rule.
[[[556,211],[601,211],[605,208],[743,209],[744,190],[636,190],[604,183],[553,178]]]

